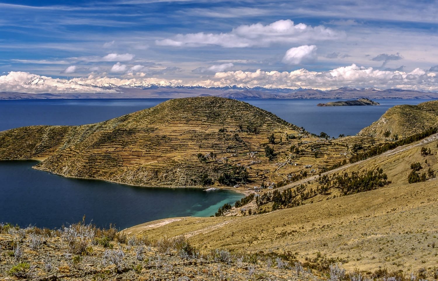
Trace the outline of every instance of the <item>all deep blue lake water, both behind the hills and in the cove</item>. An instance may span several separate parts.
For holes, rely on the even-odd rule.
[[[0,131],[29,125],[82,125],[149,108],[167,99],[0,101]],[[331,100],[244,99],[308,132],[355,135],[397,104],[426,100],[376,100],[380,106],[317,107]],[[32,169],[35,162],[0,161],[0,222],[55,228],[86,215],[120,229],[178,216],[210,216],[242,198],[231,191],[130,187],[76,180]]]

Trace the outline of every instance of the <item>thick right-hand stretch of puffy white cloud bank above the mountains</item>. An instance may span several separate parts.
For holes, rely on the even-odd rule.
[[[196,83],[206,87],[237,85],[267,88],[303,87],[321,90],[339,87],[375,87],[438,91],[438,80],[435,73],[427,73],[422,69],[414,69],[411,72],[378,70],[355,64],[321,72],[307,69],[297,69],[291,72],[262,71],[260,69],[254,72],[228,71],[216,73],[211,79]]]

